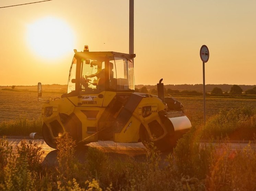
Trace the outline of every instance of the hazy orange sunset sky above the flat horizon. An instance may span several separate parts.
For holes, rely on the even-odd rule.
[[[36,0],[0,0],[0,7]],[[255,0],[134,0],[135,84],[256,84]],[[129,53],[129,0],[0,9],[0,85],[67,84],[73,49]]]

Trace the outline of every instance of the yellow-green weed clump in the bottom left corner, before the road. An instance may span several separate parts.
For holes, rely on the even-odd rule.
[[[17,148],[18,153],[14,154],[5,138],[1,139],[1,144],[7,147],[1,148],[6,161],[2,164],[0,190],[36,190],[38,171],[41,169],[38,168],[41,166],[41,149],[31,143],[27,145],[23,140]]]

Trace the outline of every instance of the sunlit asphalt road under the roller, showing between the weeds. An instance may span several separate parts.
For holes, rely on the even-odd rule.
[[[8,139],[9,145],[13,147],[14,151],[17,146],[20,145],[22,139]],[[45,162],[55,163],[57,157],[57,150],[50,148],[43,139],[26,139],[30,140],[32,143],[36,143],[38,147],[41,147],[45,152]],[[208,143],[200,143],[200,147],[203,147],[203,144]],[[218,143],[215,143],[218,144]],[[231,150],[243,149],[248,146],[248,141],[233,141],[230,143]],[[256,143],[251,143],[251,148],[256,149]],[[105,153],[108,153],[109,156],[114,158],[127,158],[133,157],[136,160],[146,160],[147,149],[142,145],[142,143],[116,143],[114,141],[98,141],[92,142],[88,145],[80,147],[75,151],[75,155],[77,156],[80,162],[83,162],[85,159],[86,151],[89,147],[95,147]],[[169,153],[161,154],[161,164],[165,166],[164,159]]]

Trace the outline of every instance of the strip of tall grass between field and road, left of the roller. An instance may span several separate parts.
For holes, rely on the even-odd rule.
[[[26,114],[20,114],[19,119],[0,123],[0,135],[28,136],[32,132],[42,134],[43,120],[28,119]]]

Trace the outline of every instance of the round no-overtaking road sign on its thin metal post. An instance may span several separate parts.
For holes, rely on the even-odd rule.
[[[205,105],[205,63],[209,60],[209,49],[202,45],[200,49],[200,58],[203,61],[203,124],[206,123],[206,105]]]

